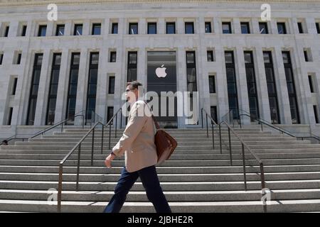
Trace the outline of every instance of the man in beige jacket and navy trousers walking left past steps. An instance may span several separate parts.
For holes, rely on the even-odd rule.
[[[158,175],[156,173],[156,145],[154,135],[156,133],[154,121],[151,118],[149,108],[140,96],[139,82],[127,84],[126,98],[131,106],[127,127],[124,129],[122,138],[112,148],[112,153],[105,159],[105,165],[112,167],[114,157],[125,154],[125,167],[114,190],[114,195],[105,208],[106,213],[118,213],[127,198],[129,190],[140,177],[146,196],[154,204],[158,213],[171,213],[168,201],[162,192]],[[142,114],[141,114],[142,113]]]

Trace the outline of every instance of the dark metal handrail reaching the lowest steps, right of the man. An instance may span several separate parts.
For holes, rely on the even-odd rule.
[[[244,177],[244,182],[245,182],[245,191],[247,191],[247,177],[246,177],[246,170],[245,170],[245,148],[251,153],[253,157],[255,157],[255,160],[260,165],[260,179],[261,179],[261,189],[262,189],[262,196],[265,196],[265,169],[262,160],[260,160],[259,157],[249,148],[249,146],[240,138],[238,133],[236,133],[231,126],[225,121],[222,121],[219,125],[225,123],[225,125],[228,127],[228,137],[229,137],[229,150],[230,150],[230,165],[233,165],[232,162],[232,148],[231,148],[231,137],[230,137],[230,131],[235,135],[238,140],[240,140],[241,147],[242,147],[242,166],[243,166],[243,177]],[[267,205],[263,205],[263,210],[267,212]]]

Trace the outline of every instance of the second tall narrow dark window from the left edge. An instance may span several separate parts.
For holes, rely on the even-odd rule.
[[[55,104],[57,101],[57,94],[58,94],[60,65],[61,65],[61,53],[54,53],[52,69],[51,69],[51,77],[50,77],[46,125],[53,125],[53,123],[55,122]]]

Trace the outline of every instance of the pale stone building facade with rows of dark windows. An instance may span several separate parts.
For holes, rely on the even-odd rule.
[[[268,3],[270,21],[265,1],[0,0],[0,137],[80,111],[106,121],[127,81],[156,88],[161,65],[170,79],[156,78],[157,92],[198,92],[198,113],[220,121],[233,109],[318,133],[320,2]]]

